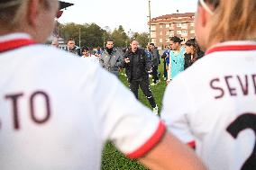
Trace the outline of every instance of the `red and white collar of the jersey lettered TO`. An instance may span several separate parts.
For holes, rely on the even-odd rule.
[[[35,41],[31,39],[28,34],[14,33],[0,37],[0,52],[7,50],[18,49],[24,46],[34,44]]]

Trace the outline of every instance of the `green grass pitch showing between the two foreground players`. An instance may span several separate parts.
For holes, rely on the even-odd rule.
[[[163,98],[163,94],[166,88],[166,83],[163,80],[162,73],[163,73],[163,66],[162,63],[159,67],[160,75],[160,83],[158,85],[151,85],[151,92],[155,98],[156,103],[159,106],[159,112],[161,108],[161,102]],[[126,77],[120,75],[120,80],[123,82],[124,85],[128,86]],[[142,94],[142,90],[139,90],[139,100],[146,105],[147,107],[151,108],[150,103],[148,102],[147,98],[144,94]],[[102,170],[146,170],[144,166],[140,163],[136,162],[135,160],[130,160],[123,156],[121,152],[119,152],[111,142],[107,142],[105,144],[104,152],[102,155]]]

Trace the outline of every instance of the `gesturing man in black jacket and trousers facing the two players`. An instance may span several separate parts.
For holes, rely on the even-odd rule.
[[[130,83],[130,90],[138,99],[139,86],[142,89],[143,94],[146,95],[148,101],[153,108],[153,112],[158,114],[158,105],[155,103],[155,99],[150,89],[149,73],[151,73],[151,60],[148,58],[144,49],[139,49],[139,42],[133,40],[131,42],[131,48],[125,52],[123,58],[123,67]]]

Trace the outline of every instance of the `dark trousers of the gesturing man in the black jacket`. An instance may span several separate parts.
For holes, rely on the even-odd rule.
[[[142,93],[146,95],[149,103],[151,104],[151,107],[152,108],[156,107],[155,99],[151,93],[149,79],[142,79],[142,80],[138,80],[138,81],[132,80],[130,82],[130,90],[133,92],[133,94],[135,95],[135,97],[137,99],[139,98],[139,96],[138,96],[139,86],[142,89]]]

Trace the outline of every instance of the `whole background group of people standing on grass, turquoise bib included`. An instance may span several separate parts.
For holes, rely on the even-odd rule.
[[[174,78],[178,73],[184,71],[187,67],[191,66],[198,58],[204,55],[197,45],[195,39],[187,40],[185,47],[181,44],[182,40],[177,36],[170,38],[169,49],[164,51],[162,58],[164,58],[164,76],[166,76],[167,84],[171,78]],[[158,105],[155,102],[154,96],[151,93],[151,85],[157,85],[160,82],[158,68],[160,65],[160,52],[154,43],[150,43],[148,49],[140,49],[139,42],[132,40],[130,48],[124,51],[114,48],[114,40],[106,40],[105,49],[98,55],[90,53],[87,46],[78,49],[75,46],[73,39],[68,40],[69,52],[74,53],[76,56],[87,58],[88,60],[98,62],[107,71],[115,76],[123,68],[125,75],[129,82],[130,90],[138,99],[139,87],[142,93],[147,97],[153,112],[158,114]],[[79,52],[81,51],[81,52]],[[152,84],[150,84],[150,76],[152,76]]]

